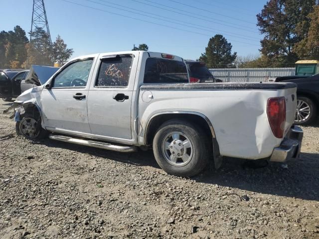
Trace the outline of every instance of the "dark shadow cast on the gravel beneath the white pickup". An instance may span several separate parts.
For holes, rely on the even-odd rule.
[[[49,139],[45,140],[44,144],[128,164],[159,168],[152,150],[120,153]],[[319,201],[319,154],[301,153],[300,159],[288,162],[288,168],[283,168],[281,163],[270,162],[266,167],[254,169],[243,167],[245,162],[242,159],[225,158],[219,170],[207,167],[206,171],[193,179],[198,183],[217,184],[250,192]]]

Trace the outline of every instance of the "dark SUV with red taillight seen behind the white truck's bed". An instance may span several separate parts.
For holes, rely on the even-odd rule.
[[[215,79],[211,72],[206,67],[206,64],[201,61],[185,61],[190,83],[216,83],[222,82],[219,79]]]

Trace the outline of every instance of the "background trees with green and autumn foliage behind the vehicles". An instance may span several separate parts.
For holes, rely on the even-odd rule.
[[[209,39],[198,60],[209,68],[292,67],[297,60],[319,60],[318,0],[269,0],[257,14],[263,39],[260,55],[237,56],[232,44],[221,35]],[[29,68],[32,64],[65,62],[73,54],[58,35],[53,44],[46,32],[30,32],[31,42],[20,26],[0,32],[0,68]],[[145,43],[132,50],[148,50]]]

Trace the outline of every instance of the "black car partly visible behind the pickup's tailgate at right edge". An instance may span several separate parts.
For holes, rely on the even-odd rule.
[[[297,84],[295,124],[307,125],[313,123],[319,115],[319,74],[281,82]]]

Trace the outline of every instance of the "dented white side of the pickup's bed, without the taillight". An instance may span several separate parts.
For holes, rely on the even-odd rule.
[[[282,141],[270,127],[268,99],[286,98],[285,135],[297,104],[296,84],[291,83],[164,84],[140,89],[142,124],[159,112],[198,112],[210,120],[221,155],[247,159],[269,157]]]

